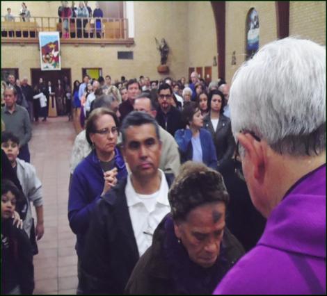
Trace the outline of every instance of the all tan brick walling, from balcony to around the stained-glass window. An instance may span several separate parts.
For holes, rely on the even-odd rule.
[[[40,4],[42,3],[42,5]],[[34,16],[56,17],[60,1],[28,1]],[[95,1],[89,1],[94,8]],[[17,15],[20,1],[1,1],[1,12],[11,7]],[[275,1],[226,1],[225,79],[230,83],[234,72],[245,60],[246,15],[250,8],[259,15],[260,47],[277,38]],[[151,79],[166,75],[157,72],[160,54],[154,37],[165,38],[170,47],[168,65],[170,76],[187,76],[189,67],[212,66],[217,54],[216,26],[209,1],[135,1],[135,44],[61,46],[62,67],[72,69],[72,81],[81,79],[82,67],[102,67],[103,74],[112,79],[138,77]],[[301,35],[326,44],[326,3],[324,1],[290,1],[290,35]],[[134,51],[134,60],[118,60],[117,51]],[[237,65],[231,65],[232,52]],[[40,67],[37,44],[1,44],[1,67],[18,67],[19,76],[30,79],[30,68]],[[217,67],[212,67],[212,79],[218,78]]]

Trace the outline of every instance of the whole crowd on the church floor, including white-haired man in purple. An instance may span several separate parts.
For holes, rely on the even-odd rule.
[[[32,293],[46,217],[31,104],[15,83],[3,94],[1,293]],[[326,50],[296,38],[262,47],[231,88],[196,72],[74,81],[77,294],[326,293],[325,95]]]

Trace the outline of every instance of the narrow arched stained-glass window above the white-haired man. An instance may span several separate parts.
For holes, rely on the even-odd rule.
[[[246,19],[246,59],[252,58],[259,49],[259,16],[251,8]]]

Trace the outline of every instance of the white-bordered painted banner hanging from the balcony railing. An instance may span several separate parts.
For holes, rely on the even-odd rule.
[[[61,70],[59,32],[40,32],[41,70]]]

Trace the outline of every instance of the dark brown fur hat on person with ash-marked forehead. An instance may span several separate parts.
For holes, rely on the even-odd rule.
[[[203,163],[187,161],[180,167],[168,192],[173,220],[186,220],[196,207],[214,202],[223,202],[227,207],[229,195],[221,173]]]

